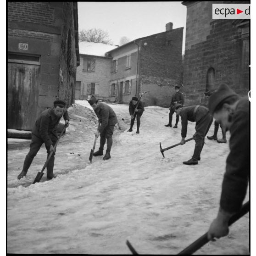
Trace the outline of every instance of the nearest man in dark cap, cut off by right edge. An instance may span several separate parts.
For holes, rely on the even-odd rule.
[[[239,97],[226,84],[209,98],[209,110],[215,120],[230,131],[230,152],[222,182],[220,207],[210,225],[208,239],[226,236],[228,221],[240,210],[245,199],[250,173],[250,102]]]

